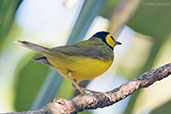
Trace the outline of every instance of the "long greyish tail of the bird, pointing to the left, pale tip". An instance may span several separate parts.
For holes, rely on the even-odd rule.
[[[33,44],[27,41],[20,41],[17,40],[17,43],[19,43],[20,45],[29,48],[37,53],[43,54],[43,53],[52,53],[51,50],[49,48],[37,45],[37,44]]]

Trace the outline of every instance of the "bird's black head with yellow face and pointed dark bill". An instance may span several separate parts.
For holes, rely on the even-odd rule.
[[[114,39],[113,35],[110,34],[109,32],[105,32],[105,31],[97,32],[92,37],[93,38],[100,38],[100,39],[102,39],[102,41],[105,44],[107,44],[112,50],[113,50],[114,46],[121,45],[121,43],[116,41]]]

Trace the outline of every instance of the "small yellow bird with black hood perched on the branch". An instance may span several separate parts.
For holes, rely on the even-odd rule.
[[[101,31],[90,39],[73,45],[47,48],[27,41],[17,41],[43,57],[35,61],[55,67],[65,78],[72,81],[74,88],[80,93],[95,91],[80,87],[78,82],[90,80],[106,72],[114,59],[113,49],[121,43],[116,41],[109,32]]]

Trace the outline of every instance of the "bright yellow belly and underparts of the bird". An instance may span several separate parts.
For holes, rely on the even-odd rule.
[[[99,60],[67,55],[61,58],[49,54],[45,54],[45,56],[62,76],[68,78],[68,73],[71,73],[72,79],[75,79],[77,82],[90,80],[103,74],[113,62],[113,58],[110,60]]]

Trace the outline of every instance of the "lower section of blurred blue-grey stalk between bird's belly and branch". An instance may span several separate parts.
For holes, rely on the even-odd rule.
[[[36,95],[31,110],[39,109],[50,102],[59,90],[62,79],[63,78],[59,76],[55,69],[51,70],[40,88],[40,91]]]

